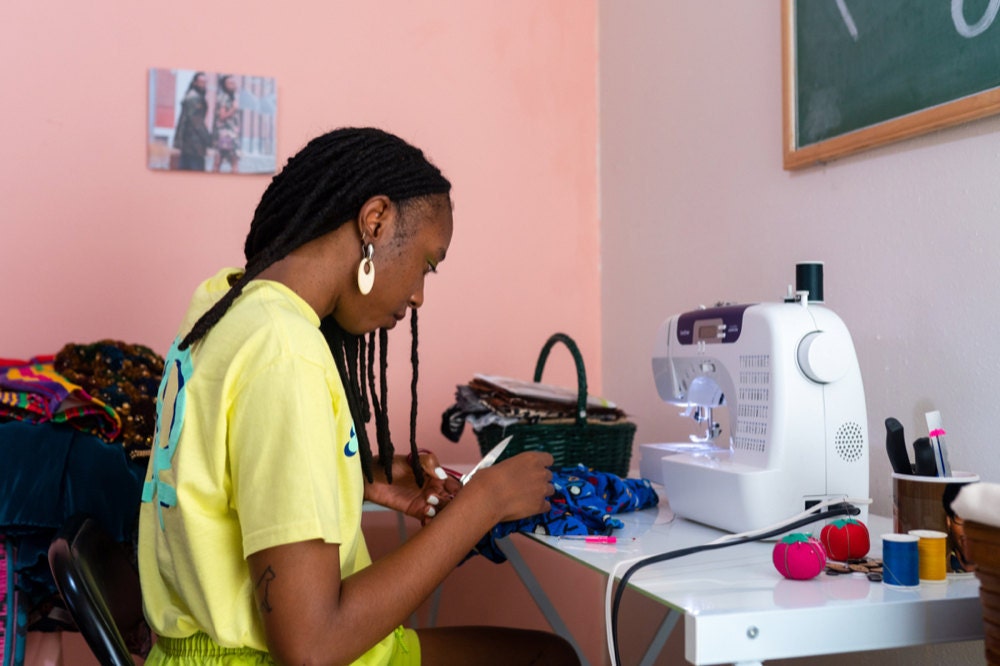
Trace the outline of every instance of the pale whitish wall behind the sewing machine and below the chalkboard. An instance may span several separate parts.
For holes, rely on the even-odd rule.
[[[599,4],[604,395],[637,443],[686,438],[652,383],[660,322],[780,300],[796,262],[821,260],[864,379],[874,511],[892,513],[888,416],[912,441],[941,410],[954,468],[1000,481],[1000,118],[783,170],[779,6]],[[982,643],[868,660],[982,663]]]

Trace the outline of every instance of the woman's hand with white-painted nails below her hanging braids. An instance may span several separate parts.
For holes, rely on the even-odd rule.
[[[393,456],[390,484],[376,459],[372,463],[374,481],[365,484],[365,499],[426,523],[447,506],[462,485],[445,473],[437,456],[429,451],[420,453],[420,467],[424,471],[422,487],[417,486],[408,456]]]

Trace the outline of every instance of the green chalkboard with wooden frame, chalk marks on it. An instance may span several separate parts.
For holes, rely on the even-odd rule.
[[[1000,0],[782,0],[784,166],[1000,112]]]

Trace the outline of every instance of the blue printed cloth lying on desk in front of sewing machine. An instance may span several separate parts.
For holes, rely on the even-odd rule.
[[[498,523],[480,539],[470,555],[479,554],[501,563],[507,557],[496,540],[514,532],[562,536],[567,534],[611,534],[622,527],[616,514],[656,506],[660,498],[646,479],[623,479],[585,465],[552,470],[555,493],[550,508],[521,520]]]

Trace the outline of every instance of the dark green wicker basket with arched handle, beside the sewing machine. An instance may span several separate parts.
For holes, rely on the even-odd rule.
[[[542,370],[552,346],[561,342],[569,348],[576,363],[577,409],[575,419],[565,422],[515,423],[508,426],[490,425],[476,432],[479,449],[486,453],[500,440],[513,435],[510,444],[500,460],[522,451],[547,451],[555,458],[555,466],[567,467],[583,464],[602,472],[611,472],[620,477],[628,474],[632,458],[632,438],[635,424],[627,420],[617,422],[588,419],[587,414],[587,373],[583,367],[583,357],[576,343],[564,333],[556,333],[548,339],[538,356],[535,366],[536,383],[542,380]]]

